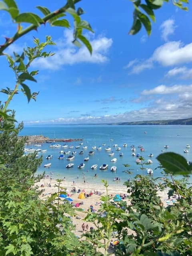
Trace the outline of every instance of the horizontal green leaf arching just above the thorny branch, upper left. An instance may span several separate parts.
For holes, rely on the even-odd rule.
[[[27,23],[31,23],[35,26],[40,26],[40,24],[44,23],[44,21],[38,15],[31,13],[31,12],[25,12],[25,13],[18,15],[15,18],[15,21],[17,23],[27,22]]]

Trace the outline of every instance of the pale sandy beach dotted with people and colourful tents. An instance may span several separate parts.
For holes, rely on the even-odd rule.
[[[55,186],[55,184],[58,184],[58,182],[55,179],[50,179],[50,177],[46,177],[40,182],[36,183],[38,185],[39,189],[43,189],[43,194],[41,195],[41,198],[44,200],[50,194],[54,192],[58,192],[58,188]],[[73,224],[76,226],[76,230],[74,231],[76,236],[81,237],[83,232],[82,230],[82,224],[85,223],[85,225],[88,224],[88,231],[90,230],[90,227],[93,226],[90,222],[85,222],[84,218],[86,217],[87,211],[90,208],[90,205],[93,206],[93,208],[98,211],[101,204],[101,196],[106,195],[106,188],[104,187],[104,184],[90,184],[90,183],[84,183],[84,182],[69,182],[66,180],[63,180],[61,182],[61,187],[64,188],[64,191],[66,191],[66,194],[72,198],[72,204],[74,207],[78,205],[79,203],[83,202],[83,204],[79,205],[80,208],[84,209],[82,212],[78,212],[78,216],[73,217],[72,221]],[[76,192],[74,193],[72,190],[76,188]],[[91,196],[80,199],[78,198],[80,192],[83,192],[84,194],[90,194]],[[164,190],[163,192],[159,192],[159,196],[164,204],[164,206],[168,204],[172,204],[172,201],[168,201],[167,196],[168,190]],[[115,196],[116,194],[122,194],[122,195],[128,195],[127,193],[127,187],[126,186],[116,186],[116,185],[109,185],[108,186],[108,194],[110,196]],[[62,198],[63,199],[63,198]],[[129,202],[127,198],[123,199]],[[168,203],[167,203],[168,202]],[[112,254],[111,254],[112,255]]]

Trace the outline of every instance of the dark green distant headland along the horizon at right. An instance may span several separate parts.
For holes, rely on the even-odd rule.
[[[136,121],[116,123],[118,125],[192,125],[192,118],[173,119],[173,120],[155,120],[155,121]]]

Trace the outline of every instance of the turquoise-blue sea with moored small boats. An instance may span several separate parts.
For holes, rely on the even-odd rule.
[[[45,175],[53,178],[63,179],[65,177],[68,181],[74,182],[88,182],[91,184],[101,183],[102,180],[107,180],[108,184],[123,185],[129,179],[132,179],[137,174],[147,174],[147,168],[153,170],[153,177],[163,177],[162,169],[158,168],[160,163],[156,159],[159,154],[164,152],[175,152],[181,154],[187,161],[192,161],[192,148],[187,148],[188,153],[184,153],[186,144],[192,146],[192,126],[190,125],[47,125],[47,126],[24,126],[20,132],[20,136],[25,135],[40,135],[48,136],[50,139],[62,138],[72,139],[71,142],[55,142],[55,144],[68,145],[68,148],[54,148],[50,147],[49,143],[42,143],[41,147],[36,147],[33,144],[26,145],[26,148],[41,148],[47,151],[38,152],[38,157],[43,156],[43,162],[37,170],[37,174],[45,172]],[[76,140],[77,139],[77,140]],[[79,140],[78,140],[79,139]],[[80,141],[81,140],[81,141]],[[80,145],[80,142],[83,142]],[[38,143],[39,144],[39,143]],[[105,146],[103,146],[105,144]],[[116,147],[113,145],[117,144]],[[127,144],[126,147],[123,144]],[[73,148],[69,148],[73,146]],[[80,148],[75,148],[80,146]],[[83,149],[87,146],[87,149]],[[93,150],[92,147],[99,146],[102,150]],[[145,165],[144,170],[140,164],[136,164],[137,156],[132,156],[132,146],[135,147],[135,154],[140,154],[144,158],[144,162],[148,159],[152,160],[152,164]],[[141,152],[140,147],[144,148]],[[165,148],[168,146],[168,148]],[[114,152],[114,156],[109,156],[111,151],[106,151],[105,148],[110,147]],[[121,150],[116,150],[120,147]],[[66,160],[67,154],[64,154],[64,159],[59,160],[60,150],[76,151],[73,160]],[[79,154],[80,151],[83,154]],[[94,151],[94,155],[89,156],[88,161],[84,158],[88,156],[89,151]],[[119,153],[122,152],[123,156]],[[149,154],[153,154],[149,157]],[[52,159],[47,160],[46,156],[52,155]],[[113,158],[117,158],[116,162],[111,162]],[[44,164],[51,162],[51,166],[44,167]],[[66,168],[66,165],[72,162],[72,168]],[[79,169],[78,165],[84,163],[85,167]],[[98,164],[97,169],[92,170],[91,166]],[[100,170],[100,166],[108,164],[107,170]],[[126,166],[124,166],[126,165]],[[116,172],[110,171],[112,166],[116,166]],[[131,173],[127,173],[127,171]],[[118,178],[118,179],[117,179]]]

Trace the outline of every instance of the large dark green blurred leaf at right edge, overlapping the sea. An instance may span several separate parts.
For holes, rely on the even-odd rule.
[[[189,166],[186,159],[174,152],[160,154],[157,160],[166,168],[165,172],[172,174],[188,175],[191,174],[192,166]]]

